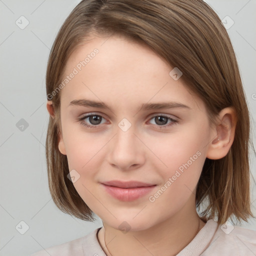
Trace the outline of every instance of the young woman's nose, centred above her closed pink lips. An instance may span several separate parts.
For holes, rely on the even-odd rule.
[[[107,160],[121,170],[138,168],[145,161],[145,146],[133,125],[127,130],[120,127],[117,126],[115,136],[108,143]]]

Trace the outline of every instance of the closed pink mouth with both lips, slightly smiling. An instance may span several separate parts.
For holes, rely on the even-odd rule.
[[[120,201],[133,201],[149,193],[156,184],[141,181],[111,180],[101,183],[105,191]]]

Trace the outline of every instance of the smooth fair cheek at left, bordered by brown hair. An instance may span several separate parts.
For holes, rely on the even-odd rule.
[[[78,127],[73,130],[71,125],[63,129],[63,138],[66,149],[69,171],[75,170],[79,178],[73,183],[81,198],[89,205],[95,203],[97,189],[95,189],[95,174],[99,170],[104,152],[104,145],[109,139],[98,136],[96,133],[82,131]],[[75,172],[75,173],[76,173]]]

